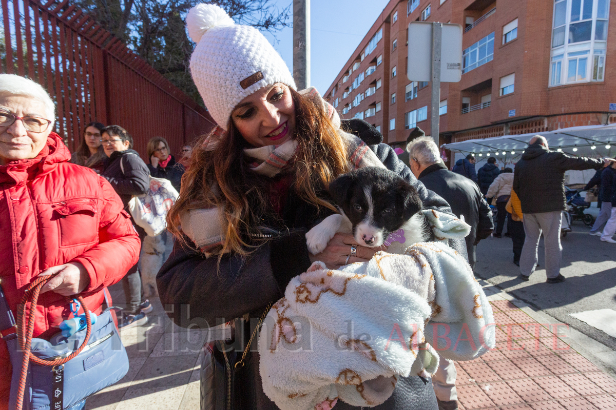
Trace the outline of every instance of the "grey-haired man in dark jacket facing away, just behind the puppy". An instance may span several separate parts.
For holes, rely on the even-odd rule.
[[[411,171],[426,188],[443,197],[455,215],[464,218],[471,226],[466,240],[468,262],[474,268],[477,242],[492,233],[492,211],[479,187],[471,179],[450,171],[440,159],[439,148],[429,136],[419,136],[407,144]],[[458,408],[456,392],[456,369],[453,361],[440,358],[439,368],[432,377],[439,409]]]

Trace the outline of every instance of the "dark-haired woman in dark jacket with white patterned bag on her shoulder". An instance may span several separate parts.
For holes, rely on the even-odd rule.
[[[116,193],[124,204],[124,209],[128,211],[128,202],[132,195],[145,194],[150,186],[148,167],[144,160],[139,157],[137,151],[132,149],[132,136],[119,125],[109,125],[102,130],[102,145],[108,157],[107,166],[102,173],[103,178],[113,186]],[[142,227],[135,224],[139,238],[143,242],[145,231]],[[120,318],[119,327],[144,325],[147,317],[142,310],[152,310],[149,302],[147,306],[141,303],[141,278],[137,265],[131,267],[124,278],[124,296],[126,296],[127,307],[123,317]]]

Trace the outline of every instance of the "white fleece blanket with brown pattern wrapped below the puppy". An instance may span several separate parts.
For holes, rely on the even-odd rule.
[[[341,270],[315,262],[265,318],[263,389],[282,410],[336,398],[377,406],[398,376],[431,377],[439,354],[472,360],[494,347],[493,323],[471,267],[443,242],[381,251]]]

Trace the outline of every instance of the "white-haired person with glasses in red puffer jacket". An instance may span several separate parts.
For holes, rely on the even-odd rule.
[[[103,290],[136,264],[140,247],[107,180],[68,162],[68,148],[52,132],[54,111],[43,87],[0,74],[0,283],[15,315],[28,285],[56,274],[38,299],[33,337],[43,338],[68,318],[67,296],[80,293],[100,313]],[[11,382],[0,339],[0,410],[9,406]]]

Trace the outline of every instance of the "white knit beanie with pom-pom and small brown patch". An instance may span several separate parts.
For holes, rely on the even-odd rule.
[[[190,57],[193,81],[209,114],[225,130],[233,108],[256,90],[277,82],[296,89],[285,61],[256,28],[235,24],[214,4],[190,9],[186,23],[197,43]]]

